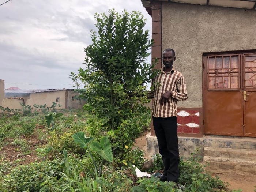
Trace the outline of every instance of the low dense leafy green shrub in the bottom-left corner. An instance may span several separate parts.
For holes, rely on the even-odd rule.
[[[15,167],[9,174],[2,175],[0,191],[63,191],[67,184],[56,174],[59,171],[59,159]]]

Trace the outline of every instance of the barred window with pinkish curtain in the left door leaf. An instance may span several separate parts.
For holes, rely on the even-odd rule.
[[[208,89],[240,89],[239,54],[207,57]]]

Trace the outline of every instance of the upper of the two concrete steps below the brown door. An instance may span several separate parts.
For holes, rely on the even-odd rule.
[[[256,161],[256,150],[204,147],[204,156],[241,158]]]

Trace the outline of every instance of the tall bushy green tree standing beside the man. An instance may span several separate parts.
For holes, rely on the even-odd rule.
[[[153,40],[143,30],[146,19],[140,12],[109,10],[108,15],[94,17],[97,33],[91,31],[93,44],[84,49],[86,67],[70,76],[87,99],[84,109],[103,122],[115,161],[127,165],[134,161],[129,154],[141,131],[132,117],[146,110],[143,104],[150,102],[146,84],[157,75],[154,65],[146,63]]]

